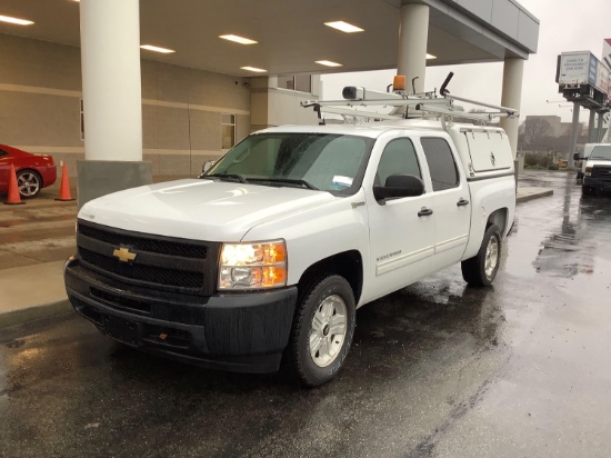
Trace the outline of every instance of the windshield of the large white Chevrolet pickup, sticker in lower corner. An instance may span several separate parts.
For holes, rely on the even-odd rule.
[[[352,195],[360,187],[373,139],[331,133],[256,133],[200,178],[290,186]]]

